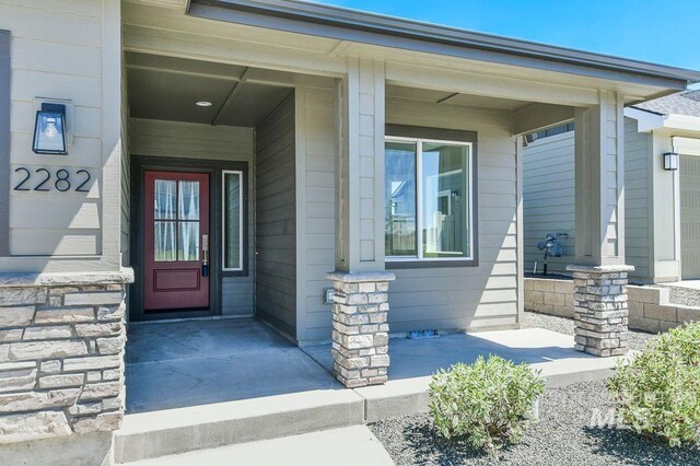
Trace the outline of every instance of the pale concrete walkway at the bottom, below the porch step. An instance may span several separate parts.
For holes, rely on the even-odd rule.
[[[126,464],[132,466],[390,466],[394,462],[366,426],[352,426]]]

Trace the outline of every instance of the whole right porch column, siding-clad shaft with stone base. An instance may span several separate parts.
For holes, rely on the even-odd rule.
[[[599,92],[599,104],[575,112],[576,349],[596,356],[627,352],[625,265],[623,98]]]

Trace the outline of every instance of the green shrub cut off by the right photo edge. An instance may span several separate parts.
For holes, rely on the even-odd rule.
[[[672,446],[700,444],[700,323],[652,339],[608,381],[618,416],[640,434]]]

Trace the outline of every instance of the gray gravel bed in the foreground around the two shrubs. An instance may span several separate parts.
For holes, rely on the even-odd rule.
[[[428,415],[390,419],[370,429],[399,466],[700,464],[700,448],[670,448],[625,428],[595,427],[594,413],[605,417],[611,407],[603,381],[549,388],[540,400],[539,421],[525,431],[521,443],[495,456],[475,451],[464,441],[436,436]]]

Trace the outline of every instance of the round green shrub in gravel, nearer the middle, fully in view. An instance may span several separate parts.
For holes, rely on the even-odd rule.
[[[517,442],[525,415],[542,394],[544,381],[527,364],[479,357],[472,364],[440,370],[430,383],[430,412],[439,434],[466,438],[490,453]]]

